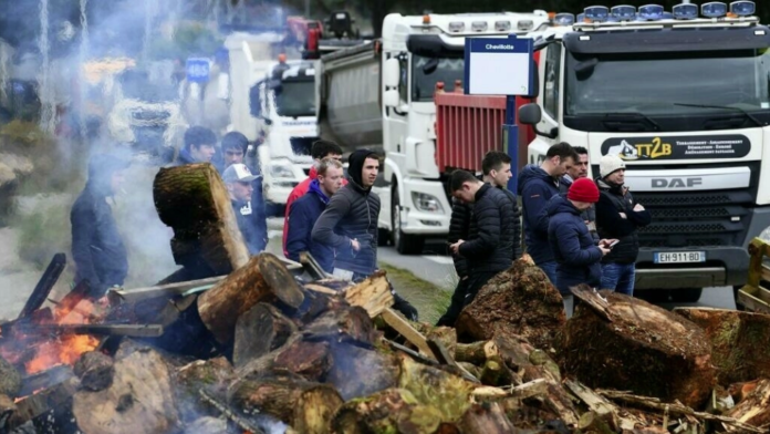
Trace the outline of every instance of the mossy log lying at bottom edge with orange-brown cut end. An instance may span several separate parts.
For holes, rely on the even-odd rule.
[[[246,414],[274,416],[301,433],[327,433],[327,421],[343,404],[334,388],[296,375],[240,381],[230,389],[228,402]]]

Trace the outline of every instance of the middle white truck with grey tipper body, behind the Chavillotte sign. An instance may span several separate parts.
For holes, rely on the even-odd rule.
[[[451,168],[436,163],[437,82],[454,89],[465,71],[466,38],[526,34],[550,25],[545,11],[405,17],[392,13],[382,39],[321,56],[316,69],[321,137],[346,152],[384,154],[375,184],[381,241],[419,254],[449,231]],[[479,156],[480,158],[480,156]]]

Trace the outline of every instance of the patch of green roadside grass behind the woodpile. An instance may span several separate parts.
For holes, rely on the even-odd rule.
[[[393,283],[396,292],[417,308],[420,322],[435,324],[446,312],[451,300],[451,292],[423,280],[402,268],[382,262],[379,268],[387,272],[387,278]]]

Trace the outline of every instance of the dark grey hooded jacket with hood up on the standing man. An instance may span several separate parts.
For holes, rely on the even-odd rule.
[[[370,276],[377,268],[377,218],[379,197],[372,188],[364,188],[362,170],[366,157],[377,157],[367,149],[360,149],[348,158],[350,183],[332,196],[326,209],[313,226],[313,242],[335,249],[334,268]],[[352,240],[361,245],[352,248]]]

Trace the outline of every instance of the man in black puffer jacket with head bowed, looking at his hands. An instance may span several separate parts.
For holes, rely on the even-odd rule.
[[[511,266],[516,215],[508,196],[485,184],[466,170],[451,175],[451,194],[466,204],[474,204],[468,240],[450,246],[468,261],[466,306],[489,279]]]

